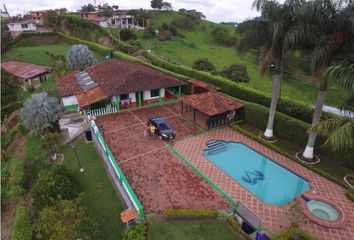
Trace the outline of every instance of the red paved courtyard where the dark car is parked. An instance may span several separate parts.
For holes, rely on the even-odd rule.
[[[176,141],[201,133],[164,105],[96,119],[145,212],[161,213],[166,208],[231,209],[232,205],[173,154],[165,142],[144,135],[146,121],[151,117],[164,117],[176,130]]]

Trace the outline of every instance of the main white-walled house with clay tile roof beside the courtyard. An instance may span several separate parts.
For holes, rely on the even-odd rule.
[[[111,59],[57,79],[64,109],[119,112],[181,94],[185,82],[141,64]]]

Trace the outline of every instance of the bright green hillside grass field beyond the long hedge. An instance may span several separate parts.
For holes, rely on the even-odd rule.
[[[152,26],[157,28],[162,23],[169,24],[173,19],[182,17],[175,12],[161,12],[152,21]],[[247,67],[250,76],[249,83],[241,83],[262,92],[271,94],[272,75],[266,74],[260,78],[256,59],[254,57],[239,55],[232,48],[225,48],[213,44],[210,32],[215,26],[220,26],[208,21],[202,21],[192,31],[179,29],[185,35],[185,39],[173,38],[170,41],[159,42],[156,39],[139,38],[145,49],[150,49],[154,54],[163,57],[171,62],[192,66],[198,58],[208,58],[216,66],[217,70],[222,70],[230,64],[242,64]],[[237,36],[235,28],[221,25],[226,28],[230,35]],[[141,35],[141,34],[139,34]],[[289,71],[285,69],[285,71]],[[281,97],[294,99],[307,105],[313,105],[316,99],[317,88],[309,77],[303,74],[284,74],[281,89]],[[331,86],[328,91],[326,104],[338,106],[344,99],[345,92]]]

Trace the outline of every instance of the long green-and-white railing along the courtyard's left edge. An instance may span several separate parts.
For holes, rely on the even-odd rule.
[[[113,167],[116,175],[118,176],[120,183],[124,187],[124,190],[127,193],[130,201],[133,203],[134,208],[137,210],[140,217],[142,217],[142,218],[145,217],[143,205],[140,203],[138,197],[136,196],[135,192],[133,191],[132,187],[130,186],[128,180],[124,176],[122,169],[119,167],[117,160],[113,156],[111,150],[109,149],[108,145],[104,141],[95,121],[93,121],[93,120],[91,120],[91,127],[92,127],[94,134],[96,135],[99,143],[101,144],[103,150],[105,151],[106,156],[107,156],[111,166]]]

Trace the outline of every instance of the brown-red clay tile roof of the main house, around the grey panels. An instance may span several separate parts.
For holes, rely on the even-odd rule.
[[[185,84],[181,80],[141,64],[116,59],[89,67],[86,72],[108,96]],[[60,97],[83,93],[74,74],[70,73],[57,79]]]

